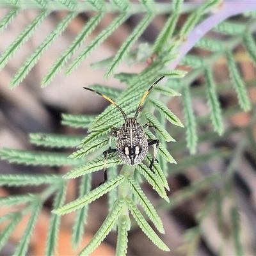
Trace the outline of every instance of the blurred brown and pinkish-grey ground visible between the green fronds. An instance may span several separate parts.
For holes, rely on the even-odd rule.
[[[12,22],[7,29],[1,34],[0,52],[3,52],[8,45],[19,35],[20,31],[36,17],[36,12],[26,11],[20,13],[15,22]],[[40,147],[35,147],[29,143],[28,134],[31,132],[43,132],[43,133],[55,133],[55,134],[83,134],[82,129],[73,129],[65,125],[61,125],[61,113],[72,114],[97,114],[100,113],[108,102],[99,95],[85,92],[83,86],[90,86],[90,84],[106,84],[106,86],[113,86],[115,88],[124,89],[125,84],[120,83],[118,79],[108,79],[104,81],[104,68],[93,69],[90,67],[91,63],[103,60],[115,54],[119,49],[125,38],[131,33],[132,29],[138,24],[141,19],[140,15],[132,15],[120,28],[101,44],[97,51],[93,51],[86,61],[70,76],[65,77],[63,72],[60,72],[58,76],[47,86],[47,88],[40,88],[40,83],[45,72],[49,70],[54,60],[60,56],[61,52],[74,40],[75,36],[84,26],[87,15],[78,15],[68,26],[58,40],[54,42],[51,48],[45,52],[39,63],[31,70],[26,79],[15,89],[10,90],[8,87],[10,81],[20,67],[21,63],[31,53],[31,49],[35,49],[37,45],[44,42],[45,37],[56,27],[56,24],[63,18],[66,13],[51,13],[47,19],[42,22],[40,28],[35,32],[35,35],[24,44],[22,49],[15,54],[10,60],[8,65],[0,72],[0,147],[26,149],[26,150],[42,150]],[[6,11],[0,10],[0,18],[2,19],[6,15]],[[106,15],[104,20],[100,22],[99,26],[95,30],[95,35],[99,33],[101,28],[104,28],[106,24],[113,19],[114,15]],[[166,22],[167,16],[158,15],[153,22],[148,26],[145,33],[140,37],[138,43],[148,42],[152,43],[156,39],[159,30],[163,28],[164,22]],[[186,19],[186,14],[182,15],[179,22],[180,25]],[[86,44],[92,40],[93,36],[90,35],[86,40]],[[137,45],[138,46],[138,45]],[[136,47],[136,45],[134,45]],[[198,56],[204,56],[205,52],[200,49],[193,50],[194,54]],[[207,54],[205,54],[207,56]],[[248,56],[244,53],[243,46],[239,46],[236,49],[236,60],[239,64],[239,69],[245,81],[248,81],[250,89],[248,90],[250,99],[252,102],[256,100],[256,90],[253,87],[255,81],[255,67],[251,63]],[[147,63],[136,63],[131,66],[122,63],[117,72],[140,72]],[[180,66],[183,70],[188,70],[187,67]],[[229,81],[227,66],[224,59],[220,59],[214,67],[214,79],[218,84],[225,84]],[[150,84],[148,84],[150,86]],[[195,109],[196,116],[208,115],[208,109],[206,100],[200,95],[200,90],[204,86],[204,77],[196,79],[191,84],[191,92],[193,97],[193,107]],[[197,96],[196,96],[197,95]],[[228,109],[229,107],[237,105],[236,93],[234,90],[223,90],[219,93],[219,99],[222,109]],[[183,120],[182,102],[180,97],[172,99],[168,107]],[[179,166],[179,159],[188,157],[188,150],[185,147],[180,150],[179,153],[175,152],[175,157],[178,168],[177,174],[170,175],[168,182],[170,186],[170,192],[168,195],[173,198],[178,198],[173,207],[164,205],[156,195],[155,191],[149,184],[143,185],[148,198],[154,205],[158,205],[158,212],[161,216],[166,234],[161,235],[164,243],[166,243],[170,252],[161,252],[151,241],[141,232],[138,226],[134,225],[129,232],[129,247],[127,255],[187,255],[188,246],[195,246],[195,255],[211,256],[211,255],[235,255],[234,245],[232,239],[228,236],[230,234],[230,225],[227,223],[220,223],[218,221],[218,214],[216,217],[216,211],[209,210],[207,218],[204,219],[201,225],[201,236],[194,236],[195,241],[189,238],[188,230],[192,230],[197,227],[196,214],[202,209],[205,199],[207,199],[208,188],[204,187],[198,190],[194,196],[188,197],[184,194],[180,194],[182,189],[186,189],[193,182],[204,180],[207,175],[214,172],[225,172],[230,158],[227,157],[233,154],[233,149],[236,149],[237,145],[243,140],[244,133],[250,131],[252,133],[252,140],[255,140],[256,130],[255,125],[250,123],[251,114],[244,113],[243,111],[236,111],[231,115],[225,117],[225,128],[234,129],[236,132],[230,132],[227,136],[221,138],[215,135],[216,138],[213,141],[203,141],[198,144],[198,154],[211,152],[212,149],[218,148],[223,150],[223,157],[209,157],[193,161],[193,165],[184,164]],[[204,124],[200,126],[200,131],[209,132],[209,136],[213,136],[212,127],[210,124]],[[232,130],[233,131],[233,130]],[[184,140],[185,131],[175,130],[175,134],[170,134],[177,140]],[[171,142],[170,147],[175,148],[175,143]],[[52,149],[49,149],[52,150]],[[74,148],[75,150],[75,148]],[[54,152],[63,152],[63,149],[56,149]],[[69,150],[70,154],[73,152]],[[237,161],[236,172],[232,177],[234,185],[234,197],[239,205],[241,221],[241,241],[244,246],[244,255],[255,255],[255,230],[256,230],[256,215],[255,215],[255,188],[256,188],[256,162],[255,151],[250,147],[242,149],[239,155],[239,161]],[[172,152],[171,152],[172,153]],[[241,156],[241,157],[240,157]],[[196,155],[195,155],[196,157]],[[189,161],[189,160],[188,160]],[[22,164],[10,164],[7,161],[1,161],[1,173],[66,173],[68,168],[47,168],[47,167],[33,167],[24,166]],[[172,166],[170,166],[172,168]],[[177,166],[173,167],[177,168]],[[179,172],[178,172],[179,171]],[[175,171],[174,171],[175,172]],[[102,180],[103,173],[94,173],[93,188],[97,187]],[[44,187],[28,187],[28,188],[0,188],[0,196],[17,195],[28,192],[42,191]],[[214,184],[214,188],[218,190],[218,183]],[[76,198],[77,181],[70,180],[67,191],[67,202],[70,202]],[[180,201],[179,201],[179,195]],[[221,196],[221,194],[220,194]],[[227,214],[225,207],[231,204],[230,198],[221,198],[222,200],[222,214],[225,217]],[[44,255],[44,245],[47,236],[47,225],[49,225],[49,218],[51,214],[52,201],[47,200],[44,205],[44,211],[40,213],[39,221],[36,223],[35,234],[31,239],[31,245],[29,249],[29,255]],[[0,205],[1,215],[8,211],[19,211],[19,209],[13,207],[13,209],[5,209]],[[92,236],[97,232],[104,219],[108,214],[107,197],[102,196],[92,205],[90,205],[88,224],[86,225],[86,232],[84,235],[83,246],[90,241]],[[225,219],[225,218],[224,218]],[[74,214],[67,214],[63,216],[63,223],[60,230],[59,241],[59,255],[76,255],[81,248],[72,251],[70,243],[70,236],[72,232],[72,221],[74,220]],[[1,250],[0,255],[12,255],[15,251],[20,236],[26,228],[28,218],[24,218],[20,222],[15,232],[11,235],[8,243]],[[0,232],[3,230],[4,225],[0,224]],[[196,233],[196,230],[195,234]],[[192,232],[193,233],[193,232]],[[184,234],[187,236],[184,237]],[[223,238],[224,237],[224,238]],[[225,241],[225,243],[224,243]],[[198,244],[198,247],[196,247]],[[104,240],[102,245],[95,251],[93,255],[115,255],[116,246],[116,232],[111,232]],[[223,254],[220,252],[222,246]]]

